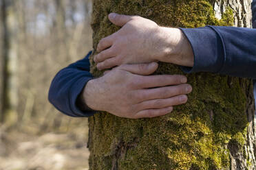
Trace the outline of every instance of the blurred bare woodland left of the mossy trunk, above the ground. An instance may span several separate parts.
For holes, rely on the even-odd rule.
[[[0,0],[0,5],[1,122],[29,124],[33,132],[66,129],[73,119],[48,103],[47,92],[59,70],[92,49],[92,1]]]

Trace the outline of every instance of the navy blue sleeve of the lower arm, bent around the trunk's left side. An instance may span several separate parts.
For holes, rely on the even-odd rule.
[[[95,113],[89,108],[81,110],[76,104],[85,84],[93,79],[92,74],[89,73],[91,54],[92,51],[83,60],[78,60],[62,69],[52,80],[48,99],[56,109],[70,117],[89,117]]]

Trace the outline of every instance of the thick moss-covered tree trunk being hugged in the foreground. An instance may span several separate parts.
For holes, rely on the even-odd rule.
[[[94,49],[119,29],[108,21],[109,12],[140,15],[166,27],[251,25],[250,0],[94,0]],[[92,73],[101,75],[91,62]],[[184,74],[166,63],[156,73]],[[164,117],[131,120],[106,112],[90,117],[90,169],[256,169],[252,80],[187,76],[193,86],[188,104]]]

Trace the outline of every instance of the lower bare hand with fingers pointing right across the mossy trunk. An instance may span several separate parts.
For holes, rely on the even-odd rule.
[[[168,114],[173,106],[185,104],[192,87],[184,75],[150,75],[151,64],[123,64],[87,82],[84,103],[94,110],[118,117],[138,119]]]

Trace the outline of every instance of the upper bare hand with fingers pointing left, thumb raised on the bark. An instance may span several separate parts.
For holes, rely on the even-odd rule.
[[[193,66],[192,47],[180,29],[160,27],[140,16],[111,13],[109,20],[122,28],[98,43],[94,61],[99,70],[157,61]]]

